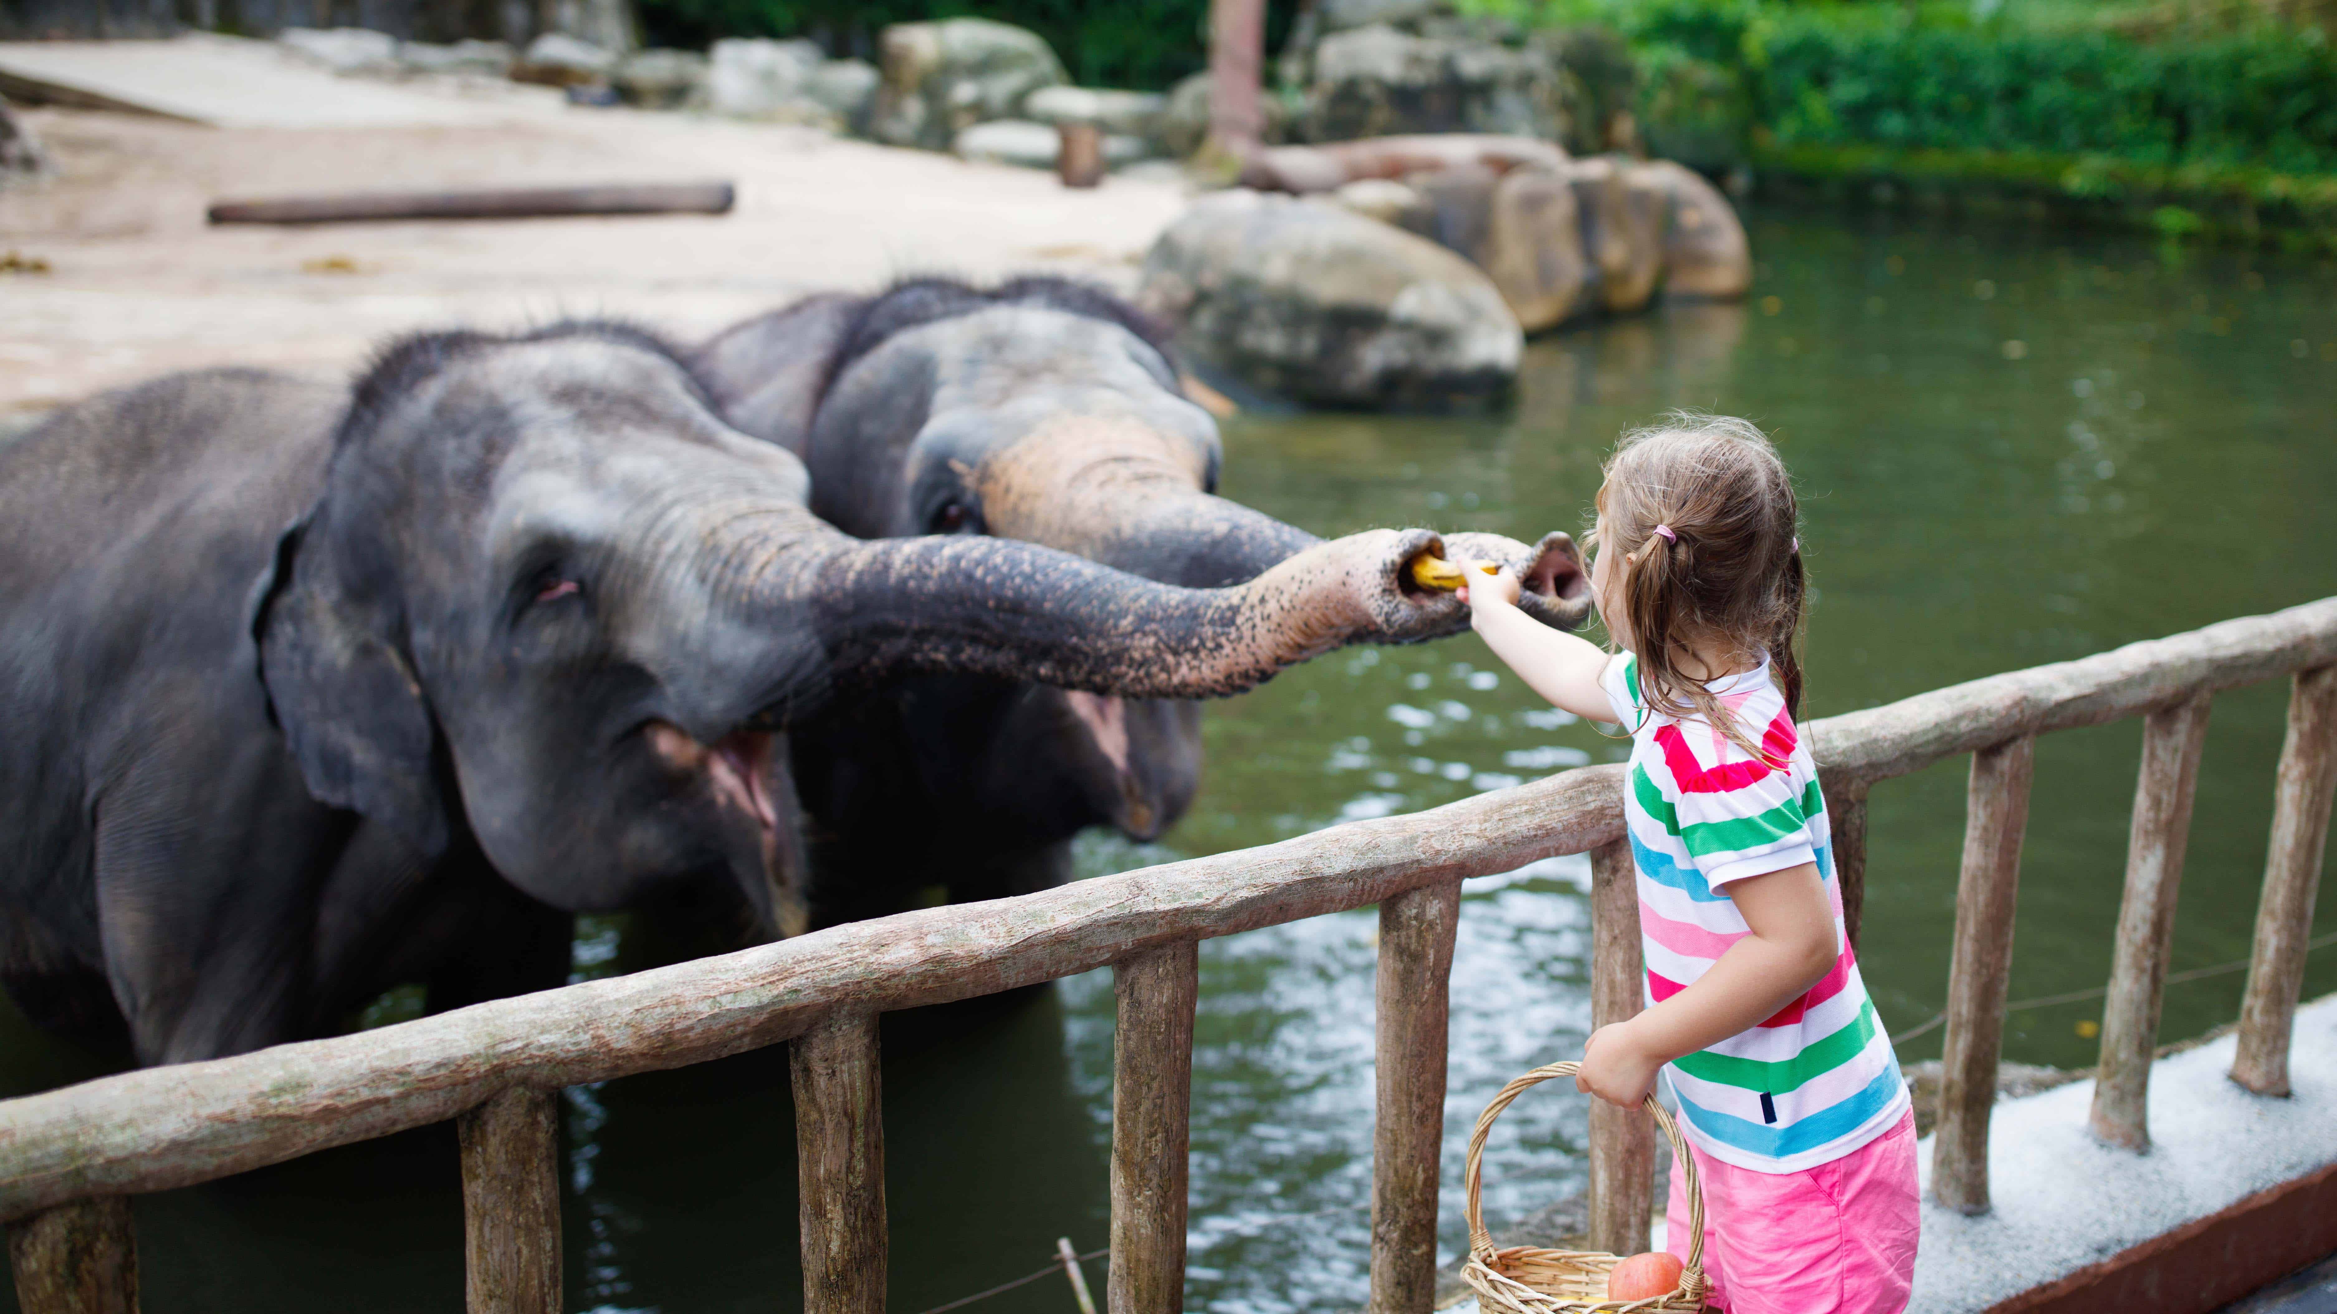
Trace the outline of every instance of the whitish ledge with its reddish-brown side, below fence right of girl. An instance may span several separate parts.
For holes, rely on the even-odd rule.
[[[2225,1036],[2157,1061],[2145,1155],[2087,1132],[2092,1080],[1998,1104],[1996,1209],[1923,1206],[1909,1309],[2204,1312],[2328,1253],[2309,1246],[2337,1230],[2337,996],[2297,1010],[2288,1099],[2232,1085],[2232,1047]],[[1921,1164],[1928,1195],[1930,1136]]]

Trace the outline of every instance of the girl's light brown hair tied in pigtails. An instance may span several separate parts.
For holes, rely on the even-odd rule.
[[[1701,715],[1753,758],[1774,762],[1699,680],[1680,673],[1694,645],[1729,662],[1762,655],[1802,715],[1802,542],[1785,463],[1753,421],[1673,412],[1615,444],[1599,489],[1599,552],[1638,657],[1638,694],[1664,715]],[[1657,533],[1657,528],[1666,533]],[[1610,627],[1613,629],[1613,627]]]

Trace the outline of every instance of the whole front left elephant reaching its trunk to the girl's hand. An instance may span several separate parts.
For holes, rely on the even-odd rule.
[[[58,412],[0,449],[0,980],[166,1064],[559,984],[584,910],[792,933],[788,732],[886,680],[1215,697],[1465,624],[1402,582],[1428,531],[1185,589],[806,496],[598,320]]]

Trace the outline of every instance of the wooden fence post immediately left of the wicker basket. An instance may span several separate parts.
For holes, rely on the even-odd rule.
[[[1369,1314],[1428,1314],[1437,1298],[1437,1164],[1458,926],[1461,881],[1379,905]]]

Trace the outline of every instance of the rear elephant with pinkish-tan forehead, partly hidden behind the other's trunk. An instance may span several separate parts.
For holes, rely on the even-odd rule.
[[[1012,538],[1183,587],[1250,580],[1320,542],[1215,496],[1218,426],[1187,400],[1164,330],[1087,283],[816,295],[692,360],[736,428],[804,458],[813,512],[846,533]],[[1589,613],[1563,533],[1533,549],[1449,540],[1517,566],[1540,620],[1573,629]],[[918,676],[804,725],[795,755],[813,914],[844,919],[916,886],[963,900],[1059,884],[1089,825],[1159,837],[1199,788],[1201,722],[1192,701]],[[897,825],[902,807],[930,825]]]

